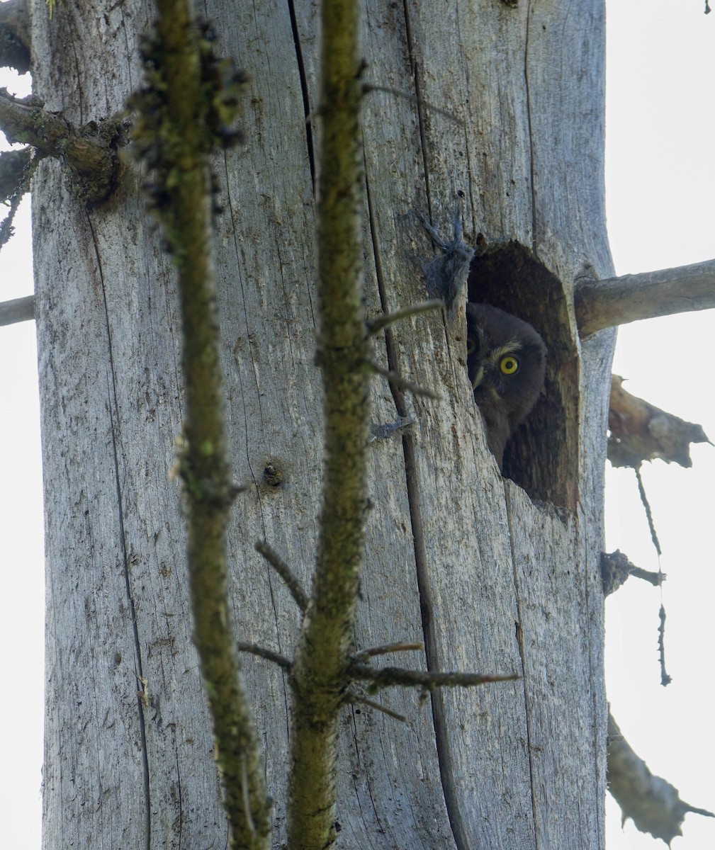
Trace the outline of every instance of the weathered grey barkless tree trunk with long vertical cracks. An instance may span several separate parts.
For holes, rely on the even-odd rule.
[[[216,156],[214,265],[233,477],[239,640],[292,658],[300,611],[266,540],[310,587],[322,471],[315,366],[317,10],[209,3],[251,77],[247,144]],[[144,5],[43,3],[35,86],[79,126],[139,85]],[[473,0],[363,8],[366,312],[424,300],[414,256],[455,207],[486,250],[470,297],[523,316],[549,349],[543,399],[502,479],[469,390],[463,314],[413,315],[374,359],[440,394],[372,378],[372,510],[355,647],[424,641],[392,666],[521,679],[354,702],[338,724],[344,847],[602,847],[602,473],[612,334],[581,343],[571,281],[613,275],[603,207],[604,8]],[[439,107],[432,109],[430,105]],[[309,121],[306,122],[306,117]],[[173,270],[128,164],[88,210],[57,161],[33,196],[48,575],[44,846],[223,846],[211,723],[191,643],[186,540],[168,479],[184,416]],[[383,433],[379,430],[377,433]],[[519,486],[521,485],[521,486]],[[525,488],[525,489],[524,489]],[[377,666],[376,662],[372,662]],[[246,683],[286,836],[287,672]],[[138,691],[141,694],[138,695]],[[554,813],[558,813],[554,816]]]

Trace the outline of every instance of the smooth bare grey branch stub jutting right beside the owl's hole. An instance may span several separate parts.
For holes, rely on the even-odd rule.
[[[711,309],[715,260],[607,280],[578,280],[574,307],[582,337],[639,319]]]

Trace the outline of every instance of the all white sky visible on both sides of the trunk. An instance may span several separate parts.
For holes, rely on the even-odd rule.
[[[606,195],[610,244],[619,274],[715,258],[715,11],[704,0],[610,0]],[[715,8],[715,4],[713,4]],[[2,74],[2,72],[0,72]],[[25,94],[20,82],[0,85]],[[0,298],[32,291],[29,210],[0,253]],[[638,322],[619,331],[614,371],[651,403],[699,422],[715,442],[712,357],[715,314]],[[34,323],[0,328],[0,645],[5,653],[0,706],[0,823],[7,847],[40,847],[43,724],[42,494]],[[715,448],[696,445],[685,470],[644,468],[661,541],[667,610],[666,660],[657,658],[661,595],[630,579],[606,600],[606,680],[627,740],[695,806],[715,809],[715,741],[710,676],[715,599]],[[608,551],[619,548],[656,570],[631,470],[607,468]],[[608,850],[664,847],[606,798]],[[715,819],[689,814],[673,850],[715,847]],[[518,848],[515,848],[518,850]],[[580,848],[564,848],[580,850]]]

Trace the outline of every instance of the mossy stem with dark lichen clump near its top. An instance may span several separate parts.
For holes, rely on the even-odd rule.
[[[229,846],[267,850],[270,803],[263,758],[230,628],[226,587],[226,524],[235,487],[226,451],[210,258],[207,155],[214,144],[231,138],[217,104],[234,102],[235,92],[226,95],[211,38],[191,19],[189,3],[159,0],[158,10],[156,36],[142,46],[146,85],[133,98],[139,113],[134,132],[137,150],[152,170],[153,207],[179,277],[185,387],[179,473],[186,499],[194,640],[213,717]]]

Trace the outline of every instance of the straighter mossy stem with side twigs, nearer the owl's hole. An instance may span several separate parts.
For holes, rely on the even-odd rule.
[[[364,549],[371,358],[360,240],[359,8],[355,0],[321,5],[318,361],[326,442],[315,576],[291,679],[291,850],[319,850],[336,839],[338,713]]]

